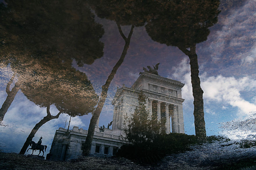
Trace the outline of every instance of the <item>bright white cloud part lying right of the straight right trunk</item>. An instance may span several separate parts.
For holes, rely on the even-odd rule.
[[[240,116],[256,111],[256,105],[244,100],[240,92],[252,90],[256,87],[256,80],[249,77],[236,79],[234,77],[202,76],[201,87],[206,100],[214,100],[220,103],[228,103],[233,107],[238,107]]]

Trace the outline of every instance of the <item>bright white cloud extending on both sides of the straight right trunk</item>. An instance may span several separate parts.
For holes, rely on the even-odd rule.
[[[173,67],[175,72],[173,77],[182,80],[185,83],[182,88],[182,98],[185,99],[184,105],[189,105],[193,102],[192,85],[190,77],[189,59],[185,58],[177,66]],[[207,72],[200,75],[201,88],[204,91],[203,98],[205,103],[217,102],[220,105],[225,105],[222,109],[227,109],[227,105],[237,107],[239,109],[238,116],[248,115],[250,111],[256,111],[255,103],[250,103],[245,100],[245,96],[241,92],[251,91],[255,93],[256,80],[244,76],[241,78],[225,77],[222,75],[208,76]],[[215,113],[213,110],[205,109],[206,112]]]

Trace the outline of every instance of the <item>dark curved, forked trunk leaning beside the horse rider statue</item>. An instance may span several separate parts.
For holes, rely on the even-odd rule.
[[[46,122],[52,120],[52,119],[56,119],[60,116],[60,114],[62,113],[62,111],[60,111],[56,116],[51,116],[50,114],[50,106],[47,106],[47,116],[45,116],[42,120],[40,120],[40,122],[38,122],[35,127],[32,129],[32,131],[30,132],[29,136],[27,137],[22,149],[20,150],[19,154],[24,155],[26,152],[26,149],[29,147],[30,142],[32,141],[33,137],[35,136],[35,133],[38,131],[38,129],[44,125]]]

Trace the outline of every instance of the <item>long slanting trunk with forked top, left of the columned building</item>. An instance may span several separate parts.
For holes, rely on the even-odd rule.
[[[97,123],[97,120],[99,118],[99,114],[102,111],[102,107],[104,106],[105,100],[107,98],[107,93],[108,93],[108,89],[109,89],[109,85],[111,83],[111,81],[113,80],[115,73],[117,72],[118,68],[120,67],[120,65],[123,63],[125,56],[127,54],[127,50],[129,48],[129,44],[130,44],[130,40],[131,40],[131,35],[134,29],[134,25],[131,26],[131,30],[129,33],[128,38],[125,37],[125,35],[123,34],[120,25],[117,23],[118,25],[118,30],[122,36],[122,38],[125,40],[125,47],[123,49],[123,52],[121,54],[120,59],[118,60],[118,62],[115,64],[115,66],[113,67],[113,70],[111,71],[108,79],[106,80],[106,83],[102,86],[102,92],[101,92],[101,96],[98,102],[98,106],[96,107],[95,111],[93,111],[92,113],[92,118],[90,120],[90,125],[88,128],[88,134],[85,140],[85,143],[82,146],[82,150],[83,150],[83,154],[84,155],[89,155],[90,154],[90,150],[91,150],[91,145],[92,145],[92,141],[93,141],[93,134],[94,134],[94,130],[95,130],[95,125]]]

